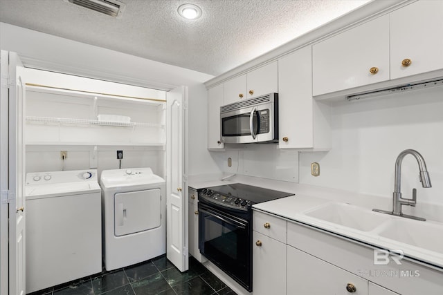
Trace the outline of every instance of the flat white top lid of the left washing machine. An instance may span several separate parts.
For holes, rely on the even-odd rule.
[[[97,182],[30,184],[25,187],[26,200],[100,193]]]

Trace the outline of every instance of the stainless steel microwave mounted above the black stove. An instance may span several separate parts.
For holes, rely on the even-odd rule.
[[[221,106],[220,129],[225,143],[278,142],[278,93]]]

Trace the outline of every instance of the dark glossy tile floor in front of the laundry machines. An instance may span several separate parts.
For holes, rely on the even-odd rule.
[[[189,270],[179,272],[166,256],[102,272],[68,284],[34,292],[32,295],[236,295],[195,258]]]

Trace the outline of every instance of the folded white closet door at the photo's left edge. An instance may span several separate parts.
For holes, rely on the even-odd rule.
[[[1,294],[25,294],[23,65],[16,53],[1,50]],[[8,165],[4,164],[9,162]],[[5,207],[8,206],[8,209]],[[9,220],[4,213],[9,212]],[[8,225],[8,233],[4,230]],[[5,247],[8,245],[8,254]],[[3,263],[9,260],[9,269]],[[7,272],[6,272],[7,271]],[[6,274],[5,274],[6,272]],[[9,274],[9,276],[8,276]],[[7,287],[5,287],[5,285]]]

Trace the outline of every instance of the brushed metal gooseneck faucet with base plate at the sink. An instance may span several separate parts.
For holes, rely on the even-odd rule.
[[[402,205],[408,205],[415,207],[415,204],[417,204],[417,189],[413,189],[413,198],[412,199],[405,199],[401,198],[401,162],[403,162],[403,158],[406,155],[413,155],[415,157],[415,160],[417,160],[418,167],[420,170],[419,178],[420,182],[422,182],[422,187],[432,187],[431,185],[431,179],[429,178],[428,171],[426,169],[426,162],[424,162],[424,158],[422,155],[420,155],[419,152],[413,150],[413,149],[406,149],[402,151],[395,161],[395,183],[394,183],[394,193],[392,193],[392,211],[385,211],[380,209],[372,209],[373,211],[391,214],[395,216],[401,216],[406,218],[412,218],[415,220],[426,220],[425,218],[416,217],[416,216],[410,216],[406,215],[401,212],[401,206]]]

